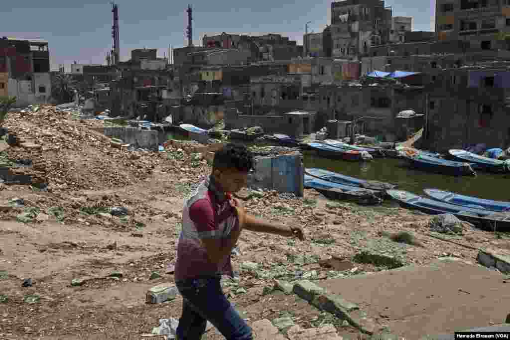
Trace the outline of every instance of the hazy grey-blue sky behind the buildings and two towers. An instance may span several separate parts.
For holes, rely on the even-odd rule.
[[[0,12],[0,36],[46,39],[52,70],[74,60],[78,63],[106,63],[112,48],[112,12],[108,1],[16,0]],[[168,54],[168,45],[186,43],[187,2],[168,0],[117,0],[119,7],[120,58],[130,59],[134,48],[158,48],[158,56]],[[302,42],[304,23],[318,32],[330,20],[330,0],[210,1],[195,0],[193,41],[201,45],[204,34],[280,33]],[[435,0],[386,0],[394,16],[413,16],[414,30],[433,30]],[[6,8],[7,7],[7,8]],[[9,7],[10,10],[9,10]]]

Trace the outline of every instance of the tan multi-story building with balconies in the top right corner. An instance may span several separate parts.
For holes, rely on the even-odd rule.
[[[438,40],[463,40],[468,47],[510,49],[508,0],[437,0]]]

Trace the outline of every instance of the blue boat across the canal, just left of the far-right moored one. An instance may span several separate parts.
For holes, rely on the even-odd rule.
[[[448,161],[423,154],[417,154],[412,157],[405,156],[404,159],[410,162],[411,167],[420,170],[455,176],[476,174],[469,163]]]

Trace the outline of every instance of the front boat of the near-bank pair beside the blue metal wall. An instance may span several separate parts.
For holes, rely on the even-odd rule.
[[[315,189],[329,199],[353,200],[361,204],[378,204],[382,202],[374,190],[328,182],[307,174],[304,175],[303,186],[304,188]]]

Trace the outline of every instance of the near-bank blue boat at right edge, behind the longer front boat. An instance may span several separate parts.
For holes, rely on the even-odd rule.
[[[490,199],[482,199],[477,197],[465,196],[460,194],[455,194],[449,191],[443,191],[439,189],[424,189],[425,194],[430,196],[431,198],[462,206],[467,206],[470,208],[479,208],[484,210],[490,210],[493,212],[508,212],[510,211],[510,202],[504,201],[493,201]]]

